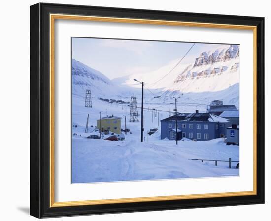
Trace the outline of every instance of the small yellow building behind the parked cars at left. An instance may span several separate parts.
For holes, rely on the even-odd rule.
[[[116,134],[121,134],[121,117],[107,116],[101,118],[101,128],[100,119],[97,120],[97,128],[102,132],[104,130],[109,130]]]

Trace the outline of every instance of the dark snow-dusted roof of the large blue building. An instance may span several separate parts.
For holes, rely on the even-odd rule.
[[[160,121],[197,121],[197,122],[228,122],[227,119],[211,113],[180,113]]]

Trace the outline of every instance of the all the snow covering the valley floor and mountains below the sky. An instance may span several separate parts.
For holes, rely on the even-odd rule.
[[[222,50],[221,53],[203,52],[197,64],[208,63],[210,59],[220,59],[219,55],[225,57],[227,54],[224,52],[227,48],[229,45],[219,49]],[[177,111],[181,113],[194,113],[195,110],[204,113],[207,105],[217,99],[223,100],[224,104],[235,104],[238,108],[239,65],[236,63],[239,59],[236,54],[235,50],[234,58],[224,62],[204,63],[193,67],[194,59],[191,61],[192,65],[178,66],[172,74],[151,87],[149,87],[150,82],[160,79],[175,63],[161,67],[158,71],[135,74],[128,76],[127,79],[112,81],[101,72],[72,60],[72,183],[238,176],[239,169],[234,168],[237,163],[232,163],[232,168],[229,168],[228,162],[218,162],[215,166],[215,162],[212,161],[201,162],[189,159],[229,160],[232,158],[233,161],[238,161],[239,146],[226,146],[222,138],[210,141],[185,139],[178,141],[176,145],[175,141],[161,140],[160,136],[160,120],[173,115],[175,109],[173,96],[180,96],[177,100]],[[191,78],[191,73],[199,74],[202,71],[205,75],[201,75],[199,79]],[[212,71],[219,72],[211,74]],[[176,79],[183,79],[183,76],[186,77],[185,80],[173,82]],[[144,142],[142,143],[140,142],[141,88],[139,83],[138,87],[135,86],[134,78],[146,82],[143,112]],[[125,86],[121,85],[121,82],[124,82]],[[161,88],[162,85],[164,88]],[[86,89],[91,89],[92,108],[85,107]],[[131,96],[137,97],[139,122],[129,121],[128,102]],[[99,98],[121,100],[125,103],[110,103]],[[125,140],[85,138],[90,135],[100,135],[95,128],[100,111],[102,111],[101,117],[112,114],[121,117],[122,129],[125,129],[126,116],[127,128],[131,133],[123,133]],[[85,133],[88,115],[89,127],[88,132]],[[211,122],[221,120],[221,117],[214,115],[209,119]],[[147,132],[154,128],[158,130],[148,136]],[[111,134],[104,135],[103,138],[108,136]]]

